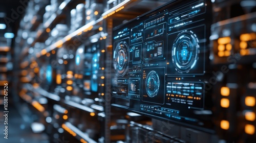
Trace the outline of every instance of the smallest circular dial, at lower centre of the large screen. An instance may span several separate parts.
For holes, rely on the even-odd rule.
[[[156,71],[152,70],[146,76],[146,92],[149,97],[153,98],[159,91],[159,77]]]

